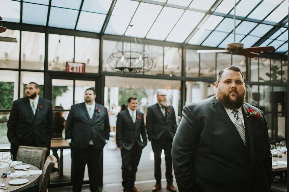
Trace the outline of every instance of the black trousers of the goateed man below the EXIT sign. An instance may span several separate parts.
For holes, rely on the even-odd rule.
[[[93,145],[89,145],[89,147],[86,149],[80,149],[71,146],[71,172],[73,172],[73,192],[81,192],[86,164],[89,177],[89,188],[91,191],[98,190],[97,181],[102,150],[102,148],[94,149]]]

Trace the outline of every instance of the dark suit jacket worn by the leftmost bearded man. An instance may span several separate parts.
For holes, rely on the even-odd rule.
[[[39,104],[42,108],[39,108]],[[35,139],[37,146],[50,147],[53,117],[51,101],[39,98],[38,108],[33,114],[27,97],[13,102],[7,123],[7,137],[15,145],[31,145]]]

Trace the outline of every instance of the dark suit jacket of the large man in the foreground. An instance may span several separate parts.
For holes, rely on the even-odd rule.
[[[248,109],[260,117],[247,117]],[[184,107],[172,147],[180,192],[270,191],[272,156],[265,116],[248,103],[242,112],[246,147],[215,96]]]

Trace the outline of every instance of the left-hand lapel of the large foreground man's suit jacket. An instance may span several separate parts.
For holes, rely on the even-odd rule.
[[[218,114],[220,115],[220,117],[223,119],[224,123],[227,125],[228,129],[230,130],[231,134],[233,135],[234,139],[236,140],[236,142],[238,143],[239,147],[241,148],[241,150],[243,151],[244,155],[246,155],[246,151],[245,151],[245,145],[234,125],[234,123],[230,120],[230,117],[228,116],[227,112],[225,111],[224,107],[217,102],[217,100],[214,98],[214,108],[215,110],[218,112]]]

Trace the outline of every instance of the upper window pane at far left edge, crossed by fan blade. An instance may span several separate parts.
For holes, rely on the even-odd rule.
[[[17,43],[0,41],[0,67],[18,69],[20,31],[7,29],[5,32],[1,33],[1,36],[16,38]]]

